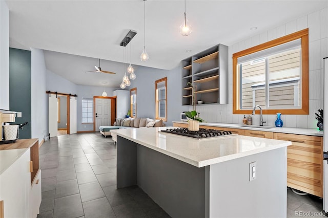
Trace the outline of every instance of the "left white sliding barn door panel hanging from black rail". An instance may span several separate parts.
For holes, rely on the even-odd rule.
[[[48,131],[50,137],[57,136],[58,129],[58,99],[56,94],[48,95]]]

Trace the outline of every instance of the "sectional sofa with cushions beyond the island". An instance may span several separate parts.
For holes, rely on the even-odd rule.
[[[112,126],[99,126],[100,134],[105,136],[111,136],[111,129],[120,128],[142,128],[142,127],[161,127],[165,126],[163,120],[155,120],[150,118],[116,118],[114,125]],[[113,140],[116,137],[113,137]],[[115,140],[114,140],[115,141]]]

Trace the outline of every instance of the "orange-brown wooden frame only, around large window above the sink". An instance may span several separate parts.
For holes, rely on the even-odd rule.
[[[291,109],[263,109],[263,114],[282,113],[286,115],[308,115],[309,114],[309,29],[304,29],[280,38],[262,43],[258,46],[234,53],[232,55],[233,63],[233,114],[252,114],[253,110],[240,109],[240,76],[238,75],[237,58],[249,55],[255,52],[279,46],[283,43],[301,39],[301,108]],[[259,112],[258,112],[259,113]]]

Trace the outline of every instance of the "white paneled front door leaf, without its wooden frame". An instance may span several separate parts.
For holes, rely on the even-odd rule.
[[[96,98],[96,132],[99,132],[99,126],[111,125],[111,99]]]

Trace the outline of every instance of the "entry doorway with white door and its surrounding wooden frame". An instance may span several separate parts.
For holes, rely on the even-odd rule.
[[[94,108],[94,132],[99,132],[99,126],[113,125],[116,119],[116,96],[115,97],[93,97]]]

